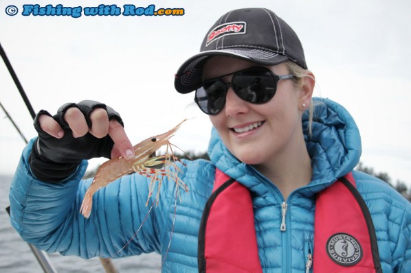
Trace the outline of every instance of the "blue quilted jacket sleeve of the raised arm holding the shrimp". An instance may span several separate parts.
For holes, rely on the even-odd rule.
[[[151,206],[145,206],[146,178],[124,176],[100,189],[93,196],[90,218],[85,219],[78,211],[91,183],[81,180],[87,162],[83,161],[76,173],[61,183],[42,182],[32,176],[27,163],[31,147],[32,141],[23,151],[10,189],[12,226],[25,241],[47,252],[86,259],[159,252],[158,226],[162,225],[162,217],[157,222],[155,213],[148,213]],[[161,215],[161,211],[156,213]]]

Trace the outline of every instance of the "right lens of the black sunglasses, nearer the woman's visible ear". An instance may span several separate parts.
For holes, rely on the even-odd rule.
[[[268,102],[276,93],[276,80],[267,69],[249,69],[234,75],[232,86],[238,97],[253,104]]]

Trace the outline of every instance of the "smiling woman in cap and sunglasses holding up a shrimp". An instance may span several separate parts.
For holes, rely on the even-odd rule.
[[[133,155],[120,115],[87,101],[38,113],[39,137],[12,182],[12,224],[49,252],[156,251],[164,272],[410,272],[410,204],[353,171],[357,126],[342,106],[311,99],[314,82],[276,14],[228,12],[176,74],[177,91],[195,91],[214,126],[211,161],[177,164],[190,191],[176,211],[175,183],[164,178],[144,219],[147,178],[131,174],[96,193],[89,219],[78,213],[91,182],[80,181],[84,159]]]

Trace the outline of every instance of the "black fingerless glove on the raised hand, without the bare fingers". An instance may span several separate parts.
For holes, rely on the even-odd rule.
[[[83,159],[102,156],[106,158],[111,157],[111,149],[114,143],[109,135],[102,139],[98,139],[90,133],[79,138],[73,137],[69,125],[64,120],[65,112],[71,107],[80,109],[82,114],[85,115],[89,128],[91,128],[90,115],[95,108],[107,110],[109,119],[115,118],[124,126],[118,112],[115,112],[115,110],[105,104],[91,100],[85,100],[78,104],[65,104],[58,109],[57,114],[54,116],[45,110],[41,110],[34,119],[34,128],[38,132],[38,139],[34,142],[32,153],[30,154],[32,173],[40,180],[58,182],[73,174]],[[64,137],[56,139],[44,132],[40,127],[40,123],[38,123],[40,115],[53,117],[63,128]]]

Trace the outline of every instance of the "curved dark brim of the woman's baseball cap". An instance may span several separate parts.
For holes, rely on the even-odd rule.
[[[184,62],[175,75],[175,89],[182,94],[195,91],[202,82],[203,65],[211,56],[231,56],[263,65],[276,65],[288,60],[287,56],[263,49],[223,49],[203,51]]]

